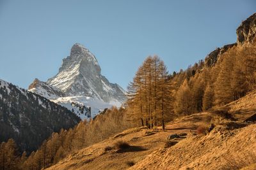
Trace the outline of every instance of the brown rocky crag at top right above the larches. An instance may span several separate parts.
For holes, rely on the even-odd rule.
[[[252,43],[256,39],[256,13],[244,20],[236,30],[237,43]]]

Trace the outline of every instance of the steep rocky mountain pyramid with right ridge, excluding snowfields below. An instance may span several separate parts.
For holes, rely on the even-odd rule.
[[[83,45],[76,43],[70,56],[63,59],[59,73],[47,84],[60,89],[67,96],[90,96],[105,101],[125,100],[124,90],[101,75],[95,56]]]

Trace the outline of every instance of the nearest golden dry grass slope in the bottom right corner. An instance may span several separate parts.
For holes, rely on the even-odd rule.
[[[239,169],[255,161],[256,125],[229,130],[216,127],[206,136],[190,136],[157,150],[131,169]]]

